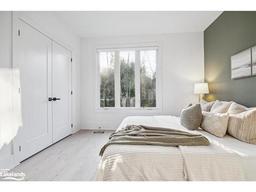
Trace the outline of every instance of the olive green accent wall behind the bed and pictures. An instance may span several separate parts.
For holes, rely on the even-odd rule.
[[[256,11],[224,11],[204,31],[204,78],[207,101],[256,106],[256,76],[231,79],[230,57],[256,45]]]

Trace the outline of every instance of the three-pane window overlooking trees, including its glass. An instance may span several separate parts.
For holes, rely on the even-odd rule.
[[[159,46],[104,46],[95,53],[97,110],[159,109]]]

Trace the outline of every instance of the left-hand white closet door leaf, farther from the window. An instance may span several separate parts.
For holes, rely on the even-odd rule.
[[[14,108],[19,108],[19,160],[52,144],[52,40],[18,21],[14,46]],[[18,103],[17,103],[18,102]],[[17,117],[18,116],[18,117]]]

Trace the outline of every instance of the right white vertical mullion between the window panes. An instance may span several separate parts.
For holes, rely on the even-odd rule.
[[[135,108],[140,108],[140,51],[135,51]]]

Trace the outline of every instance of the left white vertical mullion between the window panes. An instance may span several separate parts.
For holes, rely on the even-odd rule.
[[[115,52],[115,108],[120,108],[120,59],[119,52]]]

